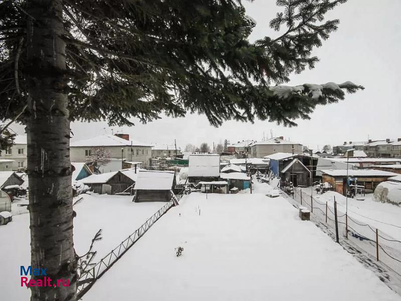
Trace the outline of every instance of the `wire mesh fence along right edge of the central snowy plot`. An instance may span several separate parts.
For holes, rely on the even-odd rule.
[[[311,211],[311,218],[335,230],[334,199],[322,203],[310,192],[294,189],[294,200]],[[401,276],[401,241],[387,233],[361,222],[337,208],[338,235],[352,242],[377,261],[384,263]]]

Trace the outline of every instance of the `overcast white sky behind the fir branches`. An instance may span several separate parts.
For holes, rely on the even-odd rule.
[[[273,0],[246,3],[248,15],[257,21],[251,36],[276,37],[269,21],[278,8]],[[209,125],[205,116],[187,114],[185,118],[162,117],[148,124],[135,122],[133,127],[113,127],[115,132],[129,133],[132,139],[150,143],[186,143],[210,145],[220,140],[262,139],[284,136],[316,148],[323,144],[401,137],[401,22],[399,0],[349,0],[330,12],[327,18],[340,19],[337,32],[316,49],[320,62],[313,70],[291,77],[291,85],[303,83],[341,83],[350,80],[365,87],[364,91],[347,95],[340,103],[319,106],[311,120],[298,120],[298,126],[286,128],[275,123],[256,121],[254,124],[228,121],[219,128]],[[23,133],[22,126],[15,126]],[[72,124],[74,140],[111,133],[105,122]]]

